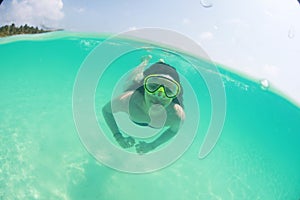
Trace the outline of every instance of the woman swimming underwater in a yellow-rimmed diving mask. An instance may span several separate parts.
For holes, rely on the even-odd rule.
[[[123,148],[135,145],[140,154],[170,140],[176,135],[185,118],[182,106],[183,90],[176,69],[164,62],[156,62],[144,70],[150,59],[150,56],[146,57],[136,68],[133,84],[102,109],[104,119],[119,145]],[[131,121],[140,126],[166,129],[152,142],[140,141],[135,144],[133,137],[125,137],[119,130],[113,116],[117,112],[126,112]]]

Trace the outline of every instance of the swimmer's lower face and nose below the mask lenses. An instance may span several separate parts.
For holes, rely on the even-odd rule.
[[[157,91],[153,93],[145,92],[145,100],[148,105],[160,104],[167,107],[172,102],[172,98],[166,96],[164,88],[160,87]]]

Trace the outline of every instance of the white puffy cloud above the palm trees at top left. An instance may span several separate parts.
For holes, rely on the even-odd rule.
[[[6,23],[56,26],[64,17],[62,0],[13,0],[5,10]]]

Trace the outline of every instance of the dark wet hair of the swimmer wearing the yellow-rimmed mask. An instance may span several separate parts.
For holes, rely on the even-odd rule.
[[[164,75],[169,75],[170,77],[172,77],[176,82],[178,82],[180,84],[180,93],[177,95],[176,98],[174,98],[172,100],[173,103],[179,104],[183,107],[183,88],[181,86],[180,83],[180,78],[179,75],[176,71],[176,69],[174,67],[172,67],[171,65],[168,65],[166,63],[163,62],[157,62],[154,63],[153,65],[151,65],[149,68],[147,68],[144,71],[144,78],[141,80],[141,85],[140,87],[138,87],[136,90],[141,92],[142,94],[144,94],[145,92],[145,88],[144,88],[144,80],[147,76],[151,75],[151,74],[164,74]]]

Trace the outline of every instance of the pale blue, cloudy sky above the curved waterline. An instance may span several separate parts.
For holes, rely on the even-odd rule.
[[[300,105],[300,4],[297,0],[4,0],[0,26],[15,23],[73,32],[169,29],[209,57]]]

